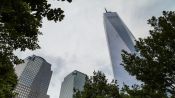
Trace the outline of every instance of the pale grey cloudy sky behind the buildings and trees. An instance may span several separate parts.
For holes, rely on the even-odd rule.
[[[43,20],[39,36],[41,49],[16,52],[20,58],[38,55],[52,64],[53,75],[48,94],[59,98],[61,82],[73,70],[92,75],[101,70],[112,79],[112,68],[103,26],[104,8],[117,12],[133,35],[146,37],[147,20],[160,16],[163,10],[175,10],[175,0],[73,0],[72,3],[49,0],[61,7],[66,17],[62,22]]]

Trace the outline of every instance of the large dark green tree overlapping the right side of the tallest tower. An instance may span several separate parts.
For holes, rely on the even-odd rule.
[[[144,83],[144,89],[175,95],[175,12],[163,11],[148,24],[153,28],[150,36],[136,41],[137,53],[123,51],[122,65]]]

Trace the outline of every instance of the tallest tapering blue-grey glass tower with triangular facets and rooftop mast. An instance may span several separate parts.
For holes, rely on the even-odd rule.
[[[124,49],[130,53],[134,53],[135,38],[116,12],[106,12],[103,14],[104,27],[108,48],[111,57],[113,74],[119,85],[126,83],[127,85],[138,84],[135,77],[130,76],[122,63],[121,50]],[[121,86],[120,86],[121,87]]]

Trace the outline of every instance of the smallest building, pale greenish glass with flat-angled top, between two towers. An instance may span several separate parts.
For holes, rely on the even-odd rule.
[[[83,90],[85,79],[86,75],[77,70],[67,75],[62,82],[59,98],[73,98],[74,90]]]

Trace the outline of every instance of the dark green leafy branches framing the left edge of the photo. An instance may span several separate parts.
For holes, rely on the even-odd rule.
[[[47,0],[0,0],[0,98],[10,98],[17,83],[13,65],[21,60],[13,51],[39,49],[42,19],[61,21],[63,13]]]

